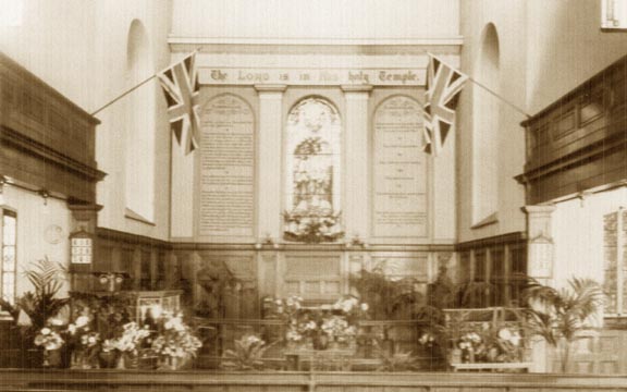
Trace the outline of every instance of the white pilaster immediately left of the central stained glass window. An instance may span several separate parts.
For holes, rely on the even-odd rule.
[[[258,230],[261,238],[282,237],[282,103],[285,85],[256,85],[259,94]]]

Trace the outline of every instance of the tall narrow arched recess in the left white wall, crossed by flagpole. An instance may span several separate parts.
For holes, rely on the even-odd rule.
[[[126,84],[135,86],[153,73],[146,28],[135,20],[126,46]],[[151,221],[155,210],[156,83],[131,93],[126,99],[125,200],[126,216]]]

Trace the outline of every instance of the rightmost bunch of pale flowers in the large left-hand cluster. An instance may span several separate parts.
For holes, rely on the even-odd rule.
[[[202,343],[192,334],[189,326],[183,321],[183,315],[164,314],[161,320],[162,324],[159,327],[158,336],[152,341],[151,350],[169,364],[163,366],[176,368],[195,357]],[[180,359],[181,364],[174,364],[174,358]]]

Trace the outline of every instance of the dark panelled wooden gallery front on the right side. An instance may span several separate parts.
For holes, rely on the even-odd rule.
[[[627,177],[627,57],[525,121],[533,205]]]

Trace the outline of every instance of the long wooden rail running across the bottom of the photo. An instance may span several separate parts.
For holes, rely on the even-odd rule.
[[[625,376],[0,370],[0,391],[549,392],[627,391]]]

